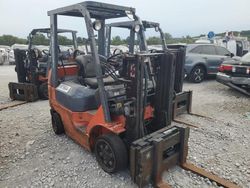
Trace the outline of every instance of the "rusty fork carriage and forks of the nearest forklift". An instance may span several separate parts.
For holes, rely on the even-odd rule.
[[[210,179],[218,185],[236,188],[236,184],[218,177],[186,161],[188,155],[189,128],[178,124],[163,128],[132,143],[130,147],[130,173],[132,180],[145,187],[171,187],[162,180],[162,173],[173,166]]]

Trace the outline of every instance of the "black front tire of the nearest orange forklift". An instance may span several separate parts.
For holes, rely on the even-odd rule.
[[[128,166],[126,146],[115,134],[105,134],[97,138],[95,156],[102,169],[108,173],[124,170]]]

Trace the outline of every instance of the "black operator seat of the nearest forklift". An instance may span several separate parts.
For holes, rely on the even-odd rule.
[[[106,62],[107,59],[104,56],[99,55],[101,62]],[[91,54],[79,55],[76,57],[76,62],[79,65],[78,76],[80,79],[83,79],[80,82],[83,82],[85,85],[96,89],[98,88],[95,65],[93,63],[93,58]],[[102,71],[104,75],[104,70]],[[108,76],[103,78],[104,85],[110,85],[115,82],[115,80]]]

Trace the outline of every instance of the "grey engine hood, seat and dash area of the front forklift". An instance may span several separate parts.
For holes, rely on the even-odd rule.
[[[112,78],[105,69],[107,60],[99,56],[102,65],[104,88],[106,91],[110,112],[113,115],[123,114],[123,103],[126,100],[124,84]],[[97,109],[101,102],[95,65],[91,54],[76,57],[78,73],[70,74],[70,67],[59,69],[61,84],[56,88],[56,98],[64,107],[73,112],[85,112]],[[64,76],[62,76],[64,75]]]

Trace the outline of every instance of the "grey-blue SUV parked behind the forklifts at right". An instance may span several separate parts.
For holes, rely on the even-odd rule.
[[[185,74],[194,83],[202,82],[208,75],[216,75],[221,63],[232,60],[226,48],[214,44],[189,44],[186,48]]]

